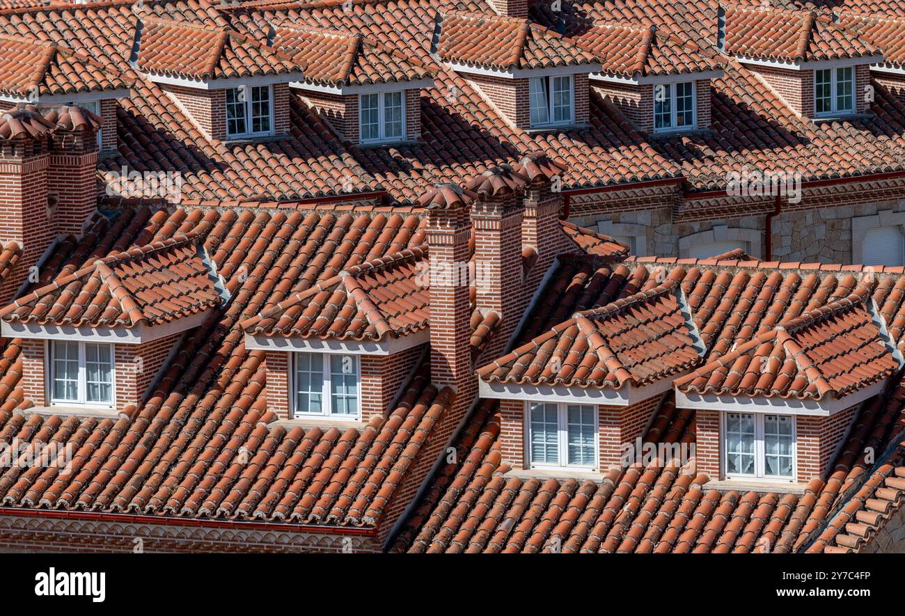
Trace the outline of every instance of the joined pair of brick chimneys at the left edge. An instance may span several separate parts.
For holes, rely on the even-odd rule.
[[[13,299],[60,232],[81,233],[97,203],[96,131],[83,109],[29,105],[0,118],[0,243],[22,254],[0,285],[0,306]]]

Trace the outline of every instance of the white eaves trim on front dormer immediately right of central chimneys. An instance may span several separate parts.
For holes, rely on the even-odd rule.
[[[663,378],[644,387],[625,385],[612,387],[567,387],[565,385],[532,385],[514,383],[487,383],[479,381],[478,395],[492,400],[525,400],[535,403],[603,404],[605,406],[632,406],[664,393],[672,388],[674,377]]]

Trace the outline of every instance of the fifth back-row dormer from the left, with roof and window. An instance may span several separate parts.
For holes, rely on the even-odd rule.
[[[602,70],[591,85],[636,128],[671,133],[710,127],[710,80],[723,74],[719,55],[655,26],[595,24],[574,37]]]

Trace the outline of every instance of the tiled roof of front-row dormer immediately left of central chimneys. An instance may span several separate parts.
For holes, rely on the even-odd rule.
[[[251,334],[383,340],[430,321],[427,247],[365,261],[243,321]]]

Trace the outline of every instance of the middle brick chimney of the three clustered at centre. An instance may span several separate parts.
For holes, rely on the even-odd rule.
[[[472,202],[476,303],[481,315],[496,312],[500,331],[484,353],[498,356],[524,312],[529,290],[522,280],[522,197],[529,178],[509,165],[495,166],[472,179],[465,188],[478,198]]]

